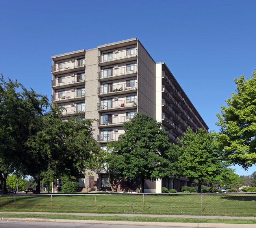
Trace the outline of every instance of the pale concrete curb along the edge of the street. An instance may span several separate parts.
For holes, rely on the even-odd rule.
[[[93,223],[111,225],[134,225],[134,226],[183,226],[198,228],[256,228],[256,224],[227,224],[227,223],[163,223],[163,222],[131,222],[131,221],[100,221],[100,220],[77,220],[77,219],[35,219],[35,218],[0,218],[2,221],[33,221],[51,223]]]

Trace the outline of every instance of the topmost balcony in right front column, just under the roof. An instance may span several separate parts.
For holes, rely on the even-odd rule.
[[[128,62],[137,59],[137,49],[129,49],[124,51],[112,51],[98,56],[98,64],[107,66],[110,64]]]

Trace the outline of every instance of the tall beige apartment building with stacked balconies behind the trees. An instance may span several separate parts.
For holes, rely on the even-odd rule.
[[[156,63],[137,38],[52,57],[52,102],[65,107],[63,118],[84,113],[94,122],[94,137],[106,150],[119,140],[124,122],[136,112],[162,122],[170,142],[176,143],[187,129],[206,128],[204,120],[164,62]],[[85,172],[79,179],[86,190],[108,190],[106,173]],[[161,187],[190,185],[184,177],[145,183],[145,192]],[[134,191],[126,181],[119,191]]]

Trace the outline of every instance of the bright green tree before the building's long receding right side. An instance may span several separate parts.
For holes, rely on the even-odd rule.
[[[213,179],[221,173],[223,162],[215,145],[214,133],[199,129],[194,133],[188,128],[180,139],[181,145],[176,145],[180,151],[179,163],[184,176],[198,180],[198,192],[201,192],[202,182]]]

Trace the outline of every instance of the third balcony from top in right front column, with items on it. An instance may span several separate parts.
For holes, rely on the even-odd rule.
[[[105,84],[98,88],[98,95],[100,97],[106,97],[111,95],[119,95],[125,93],[134,93],[137,91],[137,82],[122,83],[117,85]]]

